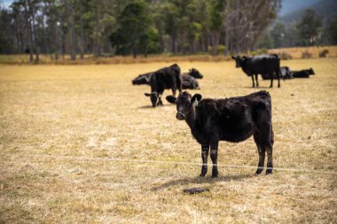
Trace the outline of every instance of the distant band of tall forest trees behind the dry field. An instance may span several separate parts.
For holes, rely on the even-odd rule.
[[[59,60],[86,54],[239,54],[336,44],[337,18],[306,11],[291,29],[280,0],[16,0],[0,9],[0,53]],[[272,26],[270,26],[272,25]]]

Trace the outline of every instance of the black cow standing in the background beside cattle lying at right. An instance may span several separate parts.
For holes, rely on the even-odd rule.
[[[262,73],[277,73],[278,75],[278,88],[280,87],[279,77],[279,58],[276,54],[271,55],[260,55],[255,57],[231,57],[236,62],[236,67],[241,67],[242,71],[247,74],[247,76],[252,77],[253,87],[255,87],[254,75],[256,81],[256,87],[259,86],[259,82],[257,81],[257,74]],[[270,88],[272,87],[273,77],[270,79]]]

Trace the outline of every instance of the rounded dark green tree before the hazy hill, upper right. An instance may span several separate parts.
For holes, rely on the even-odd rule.
[[[296,25],[302,44],[304,46],[314,45],[317,42],[321,27],[322,20],[316,15],[315,11],[312,9],[306,10],[301,21]]]

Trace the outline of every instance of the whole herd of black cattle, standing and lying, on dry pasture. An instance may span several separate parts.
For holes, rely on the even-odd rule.
[[[315,74],[313,69],[291,71],[289,67],[280,67],[278,55],[261,55],[256,57],[232,57],[236,67],[250,76],[253,88],[259,86],[258,74],[263,80],[280,78],[309,78]],[[273,169],[272,151],[274,135],[271,123],[271,97],[266,91],[259,91],[244,97],[230,97],[223,99],[202,98],[200,94],[192,96],[182,89],[200,89],[196,79],[203,75],[195,68],[188,73],[181,74],[180,67],[176,64],[163,67],[155,72],[138,75],[132,80],[133,85],[150,85],[151,92],[145,93],[150,97],[153,107],[162,105],[161,97],[165,89],[171,89],[173,96],[166,99],[171,104],[176,104],[176,119],[185,120],[191,128],[193,137],[201,145],[201,174],[208,172],[208,154],[213,163],[212,177],[218,176],[217,155],[220,141],[239,143],[254,136],[259,154],[259,161],[255,174],[263,172],[265,154],[267,153],[266,174],[271,174]],[[256,82],[256,84],[255,84]],[[176,97],[176,90],[179,91]]]

